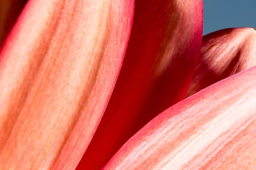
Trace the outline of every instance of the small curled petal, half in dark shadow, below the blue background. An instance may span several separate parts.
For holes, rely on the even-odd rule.
[[[186,96],[255,65],[255,29],[229,28],[205,35],[201,56]]]

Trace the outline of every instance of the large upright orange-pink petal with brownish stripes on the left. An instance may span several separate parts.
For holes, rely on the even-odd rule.
[[[133,0],[30,0],[0,53],[0,169],[72,170],[122,64]]]

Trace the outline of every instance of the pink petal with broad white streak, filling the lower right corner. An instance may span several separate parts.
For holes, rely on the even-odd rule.
[[[105,170],[255,170],[256,67],[167,109]]]

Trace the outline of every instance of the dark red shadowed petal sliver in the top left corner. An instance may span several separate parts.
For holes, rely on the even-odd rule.
[[[27,0],[0,0],[0,47]]]

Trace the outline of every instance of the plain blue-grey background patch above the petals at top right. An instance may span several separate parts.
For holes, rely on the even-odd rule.
[[[204,0],[204,35],[230,27],[256,28],[256,0]]]

